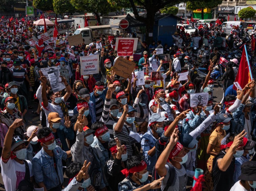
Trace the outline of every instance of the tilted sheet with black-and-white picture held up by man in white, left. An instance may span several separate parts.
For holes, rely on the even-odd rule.
[[[55,70],[50,70],[47,72],[49,80],[50,80],[50,84],[52,87],[52,91],[55,92],[59,92],[62,89],[65,89],[66,86],[64,85],[63,82],[61,82],[61,77],[60,77],[60,71],[59,69],[55,69]]]

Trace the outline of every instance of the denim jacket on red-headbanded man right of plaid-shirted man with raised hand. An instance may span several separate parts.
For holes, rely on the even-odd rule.
[[[105,163],[108,161],[109,156],[108,156],[108,150],[103,147],[100,141],[98,141],[98,138],[94,137],[94,142],[91,144],[93,154],[96,158],[96,160],[100,163],[101,165],[101,172],[102,172],[102,179],[101,179],[101,186],[100,189],[104,188],[105,186],[108,186],[108,181],[104,172],[104,167]],[[104,183],[103,183],[104,181]],[[102,185],[104,185],[102,187]]]

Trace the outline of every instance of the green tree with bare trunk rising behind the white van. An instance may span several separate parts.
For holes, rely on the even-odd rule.
[[[92,12],[96,15],[98,23],[101,25],[100,16],[109,12],[117,11],[119,7],[110,5],[107,0],[70,0],[77,10]]]

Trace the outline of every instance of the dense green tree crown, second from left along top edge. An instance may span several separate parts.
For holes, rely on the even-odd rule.
[[[69,0],[53,0],[54,12],[57,14],[74,13],[76,8],[71,5]]]

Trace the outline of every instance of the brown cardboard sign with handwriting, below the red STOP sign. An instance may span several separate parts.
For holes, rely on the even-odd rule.
[[[135,65],[135,62],[119,57],[117,58],[112,71],[114,71],[118,76],[128,78],[128,76],[133,72]]]

